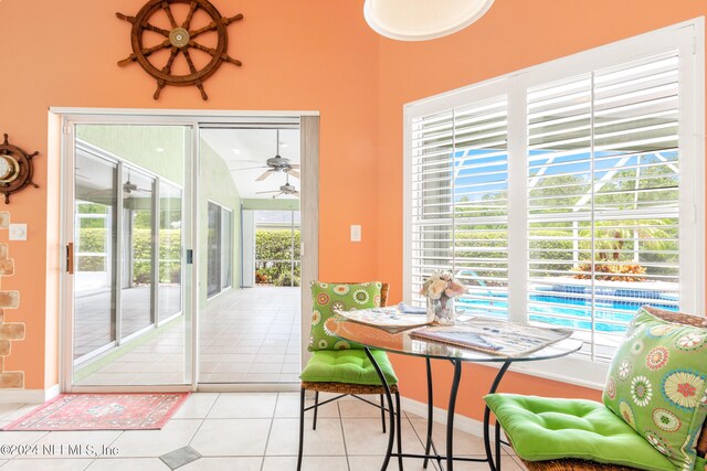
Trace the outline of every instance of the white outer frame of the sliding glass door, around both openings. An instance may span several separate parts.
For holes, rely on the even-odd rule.
[[[263,111],[263,110],[208,110],[208,109],[127,109],[127,108],[81,108],[81,107],[50,107],[50,116],[56,117],[59,128],[56,132],[61,135],[61,162],[60,162],[60,188],[61,188],[61,210],[60,210],[60,246],[56,247],[56,256],[61,260],[60,274],[60,390],[62,393],[91,393],[91,392],[182,392],[182,390],[224,390],[218,385],[214,388],[209,384],[201,384],[198,387],[199,378],[199,344],[198,344],[198,321],[199,321],[199,168],[200,149],[199,136],[202,128],[221,126],[254,126],[260,124],[277,127],[291,124],[293,119],[299,122],[300,147],[302,147],[302,208],[300,208],[300,232],[302,232],[302,319],[300,334],[306,339],[309,333],[309,321],[313,309],[312,297],[308,296],[308,280],[318,279],[319,267],[319,111],[317,110],[289,110],[289,111]],[[73,197],[74,197],[74,132],[73,126],[76,124],[103,124],[103,125],[152,125],[152,126],[190,126],[192,132],[191,164],[188,172],[191,178],[184,181],[184,199],[189,199],[189,205],[184,205],[184,217],[189,217],[191,244],[183,247],[192,250],[191,265],[191,288],[189,308],[191,322],[186,324],[191,329],[191,341],[188,345],[189,352],[186,362],[190,363],[191,384],[186,385],[160,385],[160,386],[74,386],[73,385],[73,300],[66,293],[73,293],[73,279],[66,270],[66,244],[67,215],[70,224],[73,224]],[[71,171],[68,171],[68,170]],[[305,263],[306,261],[306,263]],[[184,270],[187,272],[187,270]],[[184,309],[187,306],[184,306]],[[307,363],[310,353],[307,343],[302,342],[302,364]],[[253,387],[249,385],[249,390]],[[229,389],[231,390],[231,389]],[[240,390],[239,388],[234,390]],[[265,387],[262,390],[272,390]]]

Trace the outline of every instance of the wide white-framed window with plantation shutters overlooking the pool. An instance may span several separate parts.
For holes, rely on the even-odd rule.
[[[405,301],[452,270],[460,309],[569,327],[592,361],[642,304],[704,313],[696,30],[407,105]]]

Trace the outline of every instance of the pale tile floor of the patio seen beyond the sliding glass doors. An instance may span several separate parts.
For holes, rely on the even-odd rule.
[[[200,312],[200,383],[298,383],[299,288],[234,289]],[[80,385],[184,383],[184,329],[136,346]]]

